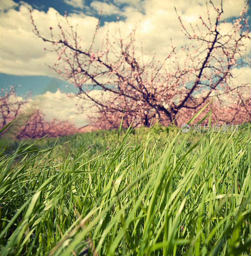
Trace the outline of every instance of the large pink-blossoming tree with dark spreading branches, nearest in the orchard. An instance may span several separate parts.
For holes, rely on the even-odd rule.
[[[212,1],[209,5],[207,18],[200,16],[200,24],[191,25],[190,29],[178,16],[182,32],[188,40],[194,41],[194,45],[181,49],[182,63],[173,45],[162,63],[154,57],[144,62],[143,50],[141,55],[136,54],[135,29],[125,39],[114,36],[111,40],[107,32],[100,48],[94,50],[98,24],[89,49],[83,50],[81,38],[69,24],[67,14],[66,28],[59,21],[60,33],[55,35],[50,28],[51,38],[40,34],[32,12],[30,18],[34,33],[43,41],[50,42],[58,54],[58,62],[50,68],[78,88],[76,96],[94,103],[98,109],[96,124],[100,128],[117,127],[122,115],[124,126],[132,120],[135,126],[149,125],[152,119],[161,119],[166,124],[181,124],[185,117],[191,117],[216,95],[216,106],[221,108],[220,111],[217,108],[218,112],[224,111],[227,105],[227,108],[236,107],[234,113],[241,109],[242,117],[247,116],[249,108],[233,104],[236,99],[244,102],[242,95],[247,94],[249,86],[249,83],[235,84],[233,74],[235,68],[250,64],[246,58],[246,46],[250,40],[246,6],[233,20],[231,28],[225,31],[222,29],[225,23],[222,20],[222,2],[219,7]],[[101,89],[106,97],[97,99],[92,96],[87,84]],[[235,100],[230,101],[231,97]],[[228,100],[224,102],[226,98]],[[231,116],[234,115],[231,113]],[[227,113],[223,117],[227,119]]]

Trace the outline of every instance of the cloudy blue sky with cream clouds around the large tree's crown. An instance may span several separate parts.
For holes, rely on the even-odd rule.
[[[219,2],[214,1],[216,5]],[[68,100],[62,92],[57,91],[59,88],[64,92],[75,92],[72,85],[45,65],[54,63],[56,56],[44,51],[48,43],[33,34],[29,8],[33,10],[35,23],[44,36],[50,35],[51,26],[56,27],[56,13],[60,19],[67,11],[70,22],[79,24],[79,35],[86,48],[102,10],[97,41],[101,42],[107,28],[113,31],[117,23],[122,28],[122,36],[137,25],[137,42],[143,43],[145,51],[154,48],[157,58],[163,60],[170,50],[170,38],[177,49],[187,43],[180,31],[174,7],[185,24],[196,24],[199,15],[206,15],[205,3],[204,0],[0,0],[0,88],[20,84],[17,87],[18,95],[31,90],[33,99],[43,102],[44,111],[49,115],[77,120],[78,126],[86,124],[86,115],[75,115],[76,101]],[[231,25],[239,15],[243,4],[243,0],[224,1],[226,26]],[[249,15],[250,9],[249,6]],[[246,71],[251,73],[250,70]]]

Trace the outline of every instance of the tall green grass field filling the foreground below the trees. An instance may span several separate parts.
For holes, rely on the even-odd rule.
[[[251,254],[248,126],[7,142],[1,255]]]

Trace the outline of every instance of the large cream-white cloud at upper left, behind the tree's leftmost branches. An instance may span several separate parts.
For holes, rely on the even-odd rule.
[[[53,8],[47,12],[34,10],[32,12],[39,32],[50,38],[50,27],[57,35],[57,15]],[[37,38],[32,32],[33,26],[29,19],[29,10],[20,5],[19,10],[10,9],[0,13],[0,72],[12,75],[43,75],[61,78],[45,64],[53,65],[57,56],[53,52],[44,51],[51,49],[51,45]],[[69,17],[73,25],[81,23],[79,28],[84,31],[86,38],[84,47],[89,46],[93,31],[98,20],[86,15],[73,14]],[[86,33],[87,32],[87,33]],[[86,33],[86,34],[85,34]]]

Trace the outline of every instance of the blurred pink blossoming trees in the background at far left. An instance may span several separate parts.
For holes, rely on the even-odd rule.
[[[0,129],[15,120],[0,136],[8,132],[13,138],[40,138],[45,135],[49,137],[74,134],[78,131],[75,124],[67,120],[60,121],[54,118],[46,120],[45,114],[39,108],[28,108],[28,96],[23,99],[16,95],[15,88],[10,86],[9,90],[2,89],[0,92]],[[23,114],[23,115],[22,115]]]

